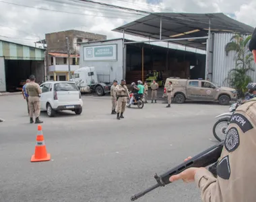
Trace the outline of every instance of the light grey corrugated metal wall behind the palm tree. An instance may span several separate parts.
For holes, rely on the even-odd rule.
[[[214,34],[214,58],[213,58],[213,69],[212,69],[212,81],[218,84],[218,86],[229,87],[226,77],[231,69],[235,67],[234,57],[236,55],[235,51],[230,51],[228,56],[226,56],[225,46],[234,34]],[[256,70],[256,65],[252,62],[252,67]],[[253,81],[256,81],[255,71],[248,71],[248,75],[251,76]]]

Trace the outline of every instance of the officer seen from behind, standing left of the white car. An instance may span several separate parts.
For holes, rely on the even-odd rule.
[[[38,83],[35,83],[36,77],[34,75],[30,76],[30,83],[26,86],[26,92],[28,93],[28,107],[30,108],[30,123],[34,123],[33,112],[36,116],[35,123],[43,123],[39,120],[40,115],[40,96],[42,93]]]

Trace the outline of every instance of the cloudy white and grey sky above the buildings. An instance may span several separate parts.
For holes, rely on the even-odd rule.
[[[255,0],[92,1],[150,12],[223,12],[245,24],[256,26]],[[34,41],[44,39],[45,33],[71,29],[119,38],[123,35],[111,30],[143,15],[146,14],[79,0],[0,0],[0,39],[34,45]],[[133,36],[126,38],[138,39]]]

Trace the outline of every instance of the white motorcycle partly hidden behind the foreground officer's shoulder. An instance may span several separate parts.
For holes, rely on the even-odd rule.
[[[236,103],[232,104],[229,108],[229,112],[220,114],[216,116],[215,118],[218,119],[218,121],[214,124],[214,127],[212,129],[214,133],[214,137],[218,141],[222,141],[226,138],[226,129],[228,128],[228,125],[230,123],[231,117],[234,114],[234,111],[238,106],[242,104],[242,100],[238,100]]]

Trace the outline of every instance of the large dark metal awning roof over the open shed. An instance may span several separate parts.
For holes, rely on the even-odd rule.
[[[206,50],[209,27],[214,33],[251,34],[254,30],[224,13],[152,13],[113,31]]]

